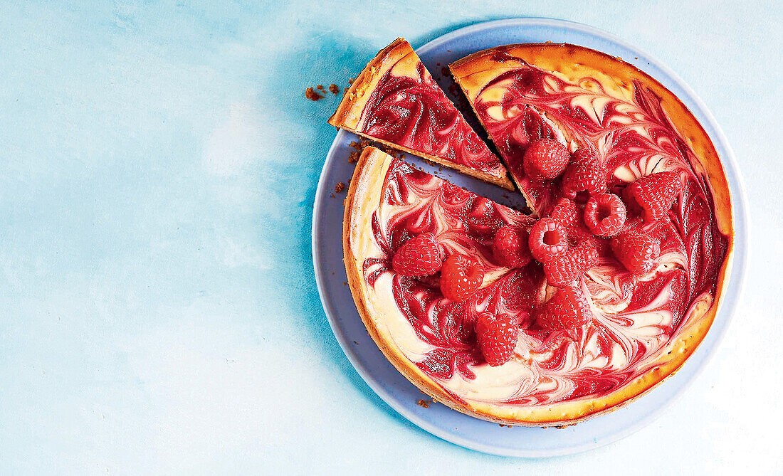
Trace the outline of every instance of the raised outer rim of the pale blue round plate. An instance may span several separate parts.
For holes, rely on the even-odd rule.
[[[589,449],[594,449],[602,445],[608,445],[609,443],[619,441],[620,439],[626,438],[627,436],[632,435],[636,431],[640,430],[642,427],[645,427],[648,424],[650,424],[666,408],[668,408],[671,404],[673,404],[673,402],[676,402],[677,399],[680,398],[681,395],[683,395],[684,391],[686,391],[687,388],[691,386],[693,381],[696,380],[698,376],[703,372],[705,367],[709,365],[709,362],[712,361],[717,348],[720,347],[720,344],[723,341],[723,337],[725,337],[728,328],[731,326],[735,309],[738,305],[738,302],[742,298],[742,294],[745,288],[744,285],[745,285],[746,275],[747,275],[746,263],[748,259],[748,253],[749,253],[747,247],[747,243],[749,239],[749,223],[747,220],[748,214],[747,214],[746,190],[745,190],[744,180],[742,179],[742,175],[739,172],[739,167],[738,167],[736,157],[734,156],[734,150],[732,150],[726,135],[724,135],[723,130],[720,128],[720,125],[715,120],[715,117],[713,116],[709,108],[707,108],[707,106],[705,106],[705,103],[702,102],[702,99],[698,97],[698,95],[693,91],[693,89],[691,89],[689,85],[687,85],[687,83],[685,83],[673,70],[667,67],[666,64],[659,61],[659,59],[655,58],[654,56],[650,56],[647,52],[644,52],[644,50],[641,50],[636,46],[631,45],[630,43],[623,40],[622,38],[615,36],[615,34],[608,33],[607,31],[601,30],[597,27],[592,27],[584,23],[578,23],[570,20],[559,20],[559,19],[548,18],[548,17],[518,17],[518,18],[506,18],[501,20],[489,20],[489,21],[480,21],[478,23],[472,23],[465,27],[460,27],[457,28],[456,30],[449,31],[446,34],[442,34],[438,36],[437,38],[433,38],[431,41],[428,41],[424,45],[421,45],[419,48],[417,48],[416,51],[419,54],[426,54],[426,52],[428,52],[429,50],[435,49],[439,45],[442,45],[447,41],[452,41],[455,38],[459,38],[469,34],[474,34],[480,31],[487,30],[489,28],[535,27],[535,26],[555,27],[562,30],[571,30],[584,34],[590,34],[597,38],[602,38],[604,40],[615,43],[616,45],[619,45],[624,49],[628,49],[633,52],[636,52],[639,55],[640,59],[644,59],[652,67],[655,67],[658,70],[660,70],[663,74],[665,74],[668,77],[665,79],[671,80],[673,85],[676,85],[677,88],[680,88],[680,90],[684,92],[685,96],[687,96],[686,99],[691,100],[691,102],[695,106],[695,110],[697,110],[699,114],[702,114],[703,119],[705,120],[705,121],[700,121],[700,123],[702,123],[702,127],[709,126],[709,127],[705,127],[705,132],[707,132],[707,135],[710,137],[710,139],[713,140],[713,143],[715,143],[716,146],[720,146],[725,152],[720,156],[720,160],[723,164],[723,172],[727,177],[727,182],[729,184],[730,195],[731,195],[730,199],[731,199],[731,207],[732,207],[732,222],[734,224],[734,248],[732,251],[731,266],[730,269],[728,270],[729,280],[726,284],[726,290],[720,302],[721,307],[718,309],[717,312],[717,316],[720,316],[720,318],[724,321],[724,323],[723,326],[720,327],[720,329],[713,330],[713,326],[715,323],[713,321],[713,326],[710,327],[710,330],[708,331],[708,335],[709,332],[717,332],[717,334],[713,334],[714,341],[711,347],[706,349],[707,353],[702,358],[702,361],[699,362],[698,366],[696,366],[694,369],[691,370],[690,376],[687,377],[687,380],[685,380],[682,384],[680,384],[680,388],[677,388],[670,396],[670,398],[666,399],[666,401],[662,402],[659,406],[651,409],[645,416],[641,417],[633,424],[630,424],[628,427],[625,427],[620,431],[616,431],[612,435],[604,436],[604,438],[602,438],[601,440],[595,439],[594,442],[586,442],[578,446],[568,446],[558,451],[553,451],[553,450],[532,451],[527,449],[514,450],[508,448],[496,448],[493,445],[487,445],[482,442],[471,441],[470,439],[464,438],[460,435],[455,435],[449,431],[443,431],[441,428],[434,427],[428,421],[422,420],[420,416],[416,415],[415,413],[411,413],[405,406],[400,405],[398,403],[397,398],[395,398],[395,396],[392,395],[391,392],[388,392],[383,387],[381,387],[381,385],[377,383],[376,379],[373,378],[370,375],[370,373],[363,368],[363,366],[359,365],[359,363],[356,361],[353,355],[352,348],[350,347],[347,339],[345,338],[345,335],[341,332],[339,326],[337,326],[336,319],[334,317],[336,315],[336,311],[334,310],[334,308],[331,307],[331,305],[327,302],[327,300],[324,297],[326,294],[325,281],[326,279],[329,278],[325,274],[326,273],[325,270],[323,270],[322,266],[320,265],[322,261],[320,260],[320,252],[319,252],[319,243],[320,243],[319,230],[316,225],[320,215],[321,204],[325,202],[325,200],[323,199],[325,196],[327,196],[329,190],[329,187],[326,186],[324,180],[325,175],[327,175],[326,172],[327,170],[329,170],[330,165],[334,160],[335,149],[337,149],[338,144],[341,144],[341,142],[343,142],[343,139],[345,139],[345,135],[348,135],[348,133],[342,129],[337,132],[337,135],[335,136],[334,141],[332,142],[327,152],[327,157],[326,160],[324,160],[323,167],[321,168],[319,181],[316,186],[316,194],[314,198],[312,222],[311,222],[312,264],[313,264],[314,274],[316,277],[316,287],[318,288],[319,299],[321,301],[323,311],[327,316],[330,329],[332,330],[334,337],[337,339],[337,343],[340,344],[343,353],[348,358],[348,361],[351,362],[354,370],[357,373],[359,373],[359,376],[362,377],[362,379],[373,390],[373,392],[375,392],[375,394],[378,395],[388,406],[394,409],[395,412],[399,413],[399,415],[406,418],[406,420],[409,420],[411,423],[417,425],[417,427],[420,427],[424,431],[428,431],[431,435],[435,435],[438,438],[442,438],[447,442],[460,445],[467,449],[473,449],[482,453],[489,453],[497,456],[516,456],[516,457],[532,457],[532,458],[563,456],[563,455],[574,454],[574,453],[582,453]],[[657,81],[661,81],[659,78],[656,78],[655,76],[653,76],[653,78],[655,78]],[[668,83],[665,83],[663,81],[661,82],[666,88],[669,89],[672,88],[671,85],[669,85]],[[680,95],[677,96],[679,97]],[[690,110],[691,107],[688,107],[688,109]],[[704,124],[703,122],[705,122],[706,124]],[[702,344],[703,342],[704,341],[702,341]],[[700,347],[702,346],[700,345]],[[687,364],[687,361],[684,362],[684,364]],[[659,385],[656,385],[655,388],[659,388],[660,386],[665,384],[666,381],[662,382]],[[597,418],[601,418],[601,416],[597,416]]]

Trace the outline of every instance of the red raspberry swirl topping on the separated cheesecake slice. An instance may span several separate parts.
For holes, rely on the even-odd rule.
[[[506,173],[424,64],[417,78],[384,74],[362,114],[367,135],[490,175]]]

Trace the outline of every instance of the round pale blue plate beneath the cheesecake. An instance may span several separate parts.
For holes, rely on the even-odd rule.
[[[654,388],[629,406],[607,415],[563,429],[538,427],[500,427],[449,409],[441,404],[429,408],[417,405],[424,395],[386,360],[367,334],[351,297],[342,252],[342,221],[344,194],[333,194],[337,182],[348,182],[353,165],[348,164],[352,151],[348,143],[356,136],[341,131],[323,164],[316,203],[312,217],[312,261],[321,294],[323,309],[329,318],[337,341],[356,371],[381,398],[408,420],[449,442],[485,453],[503,456],[555,456],[579,453],[596,448],[637,431],[648,424],[662,409],[686,388],[705,366],[709,356],[726,331],[734,307],[739,300],[746,261],[745,197],[734,155],[713,115],[695,93],[677,78],[669,68],[626,44],[614,36],[580,23],[541,18],[520,18],[478,23],[445,34],[417,49],[428,69],[442,86],[448,88],[450,79],[441,78],[442,66],[472,52],[511,43],[554,41],[573,43],[606,52],[633,63],[674,92],[702,123],[718,154],[723,160],[731,187],[734,206],[735,252],[730,283],[715,322],[698,350],[687,359],[677,374]],[[370,60],[368,54],[367,60]],[[446,89],[448,91],[448,89]],[[411,163],[436,173],[458,186],[471,189],[479,195],[511,206],[519,206],[521,197],[503,197],[503,190],[470,179],[452,171],[441,171],[418,160],[406,157]],[[516,194],[515,194],[516,195]]]

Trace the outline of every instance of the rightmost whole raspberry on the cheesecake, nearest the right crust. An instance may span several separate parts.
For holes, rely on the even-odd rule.
[[[656,172],[631,182],[622,191],[622,198],[631,210],[642,211],[645,220],[655,222],[666,215],[680,189],[682,180],[677,172]]]

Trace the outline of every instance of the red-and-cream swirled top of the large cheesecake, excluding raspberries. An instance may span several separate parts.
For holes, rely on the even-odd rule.
[[[355,254],[358,271],[376,294],[374,309],[382,310],[383,340],[427,378],[422,384],[422,377],[412,377],[390,359],[421,388],[433,393],[434,385],[447,396],[442,401],[493,420],[570,423],[640,395],[676,371],[698,346],[712,323],[731,254],[731,234],[725,234],[731,233],[731,209],[728,215],[725,209],[716,212],[716,200],[730,207],[722,189],[713,193],[711,188],[710,180],[720,180],[715,175],[720,163],[705,166],[695,152],[704,154],[709,138],[694,126],[687,128],[687,139],[681,135],[674,124],[684,121],[684,108],[667,114],[672,103],[662,99],[658,86],[637,81],[640,73],[620,71],[626,77],[616,82],[608,74],[579,75],[589,67],[561,74],[519,59],[503,64],[503,47],[495,50],[492,61],[501,66],[492,75],[477,69],[484,67],[477,62],[478,67],[464,68],[464,76],[455,71],[455,78],[467,84],[460,82],[529,205],[546,217],[562,197],[557,180],[536,182],[524,175],[521,157],[537,139],[557,140],[571,151],[591,150],[606,171],[606,192],[616,197],[641,177],[673,172],[682,185],[673,206],[655,221],[629,216],[625,225],[655,240],[660,253],[644,268],[646,274],[633,274],[607,238],[590,235],[597,265],[574,284],[592,316],[583,326],[547,330],[553,328],[536,323],[536,312],[556,288],[547,285],[542,266],[532,261],[504,268],[492,249],[497,230],[529,227],[532,218],[388,157],[383,179],[370,187],[380,189],[380,198],[371,200],[371,215],[363,215],[367,231],[356,240],[368,243]],[[550,57],[561,60],[559,51]],[[576,197],[580,211],[585,201]],[[485,267],[482,287],[467,301],[443,297],[437,274],[417,279],[391,269],[402,243],[427,232],[438,237],[444,256],[469,254]],[[478,352],[474,324],[481,312],[509,314],[520,326],[514,355],[502,365],[489,366]],[[384,352],[389,357],[388,349]]]

